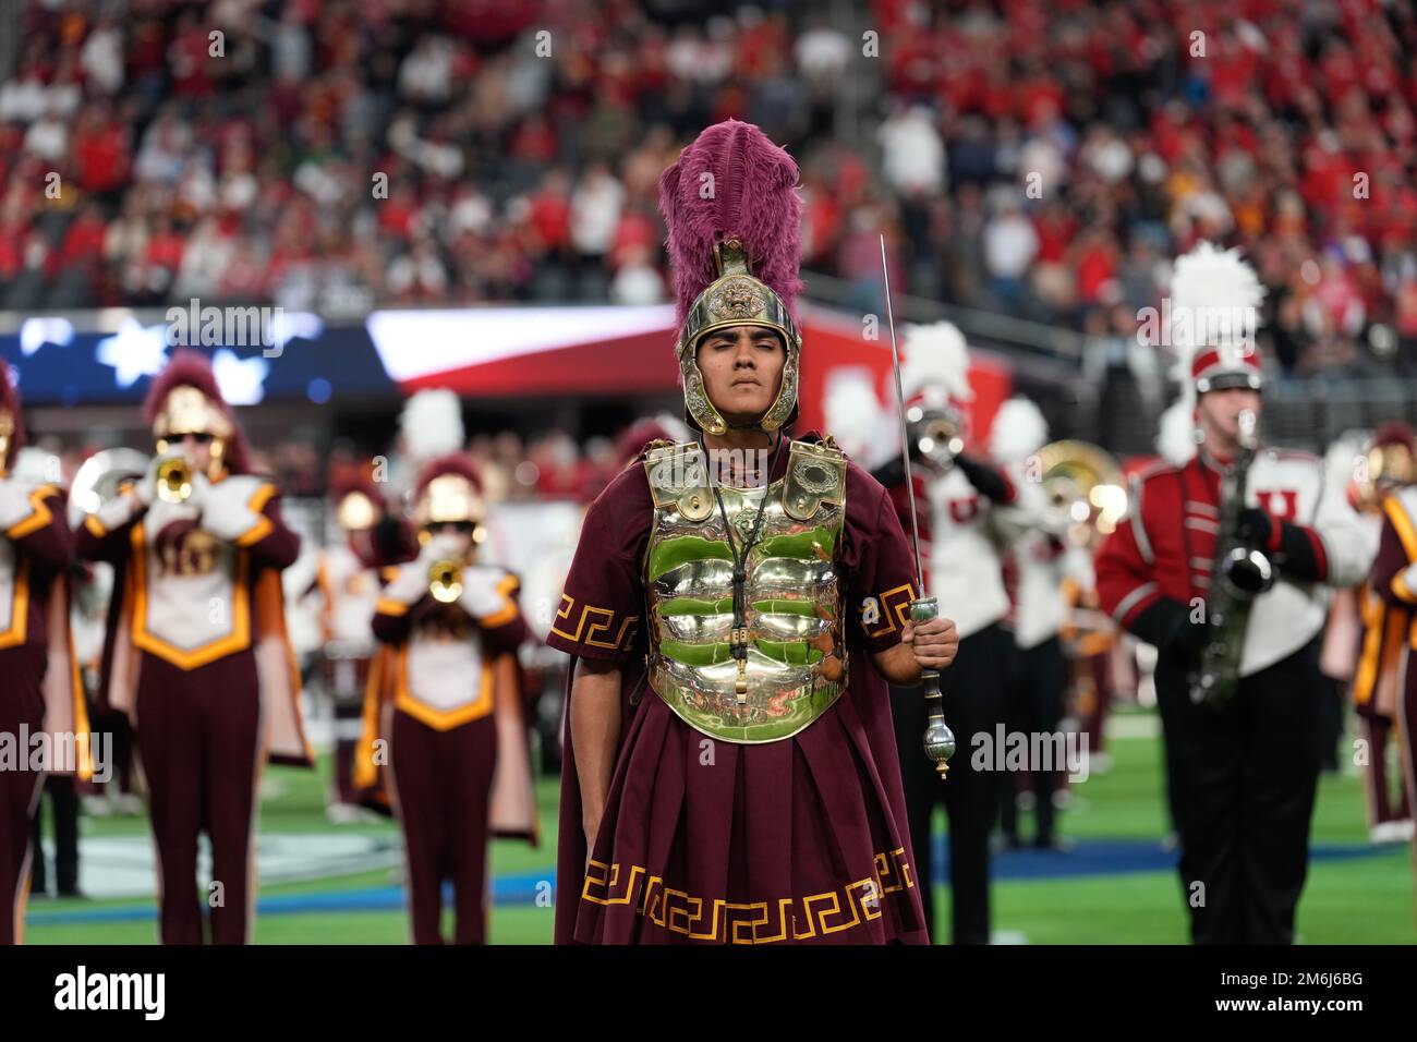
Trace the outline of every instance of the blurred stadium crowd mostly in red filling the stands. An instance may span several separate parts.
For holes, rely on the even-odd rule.
[[[802,163],[842,303],[874,308],[886,231],[920,296],[1129,333],[1213,238],[1277,371],[1417,370],[1410,7],[876,0],[863,37],[706,7],[21,4],[0,306],[665,299],[656,176],[741,116]]]

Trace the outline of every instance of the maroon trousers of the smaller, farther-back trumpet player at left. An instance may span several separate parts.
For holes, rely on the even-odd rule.
[[[445,732],[394,710],[388,750],[404,829],[414,944],[442,944],[442,882],[452,879],[455,944],[487,936],[487,804],[497,761],[493,717]]]

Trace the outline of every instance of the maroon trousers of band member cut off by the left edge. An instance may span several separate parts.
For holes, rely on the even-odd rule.
[[[30,880],[30,815],[44,784],[43,771],[30,770],[30,743],[44,726],[44,648],[21,644],[0,651],[0,734],[13,743],[17,763],[0,770],[0,944],[17,944]]]

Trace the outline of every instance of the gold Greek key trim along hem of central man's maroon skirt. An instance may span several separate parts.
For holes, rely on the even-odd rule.
[[[581,900],[633,907],[655,926],[689,940],[772,944],[788,940],[789,930],[791,940],[801,941],[874,921],[881,917],[881,897],[914,886],[904,846],[877,853],[874,870],[866,879],[803,897],[760,902],[699,897],[666,886],[660,876],[649,875],[640,865],[631,865],[622,873],[619,862],[606,865],[592,858],[585,869]]]

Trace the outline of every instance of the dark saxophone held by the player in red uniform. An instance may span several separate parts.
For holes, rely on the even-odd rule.
[[[1190,679],[1190,700],[1214,707],[1230,702],[1240,686],[1240,655],[1250,610],[1254,598],[1274,586],[1270,559],[1240,539],[1240,512],[1244,510],[1257,438],[1254,413],[1246,410],[1238,420],[1240,448],[1234,466],[1220,482],[1220,530],[1206,597],[1209,638],[1200,652],[1200,666]]]

